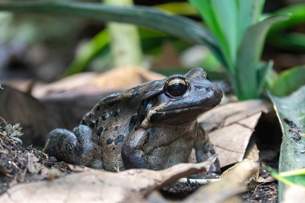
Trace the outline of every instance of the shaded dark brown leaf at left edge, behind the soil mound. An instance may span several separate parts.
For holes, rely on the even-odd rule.
[[[59,122],[37,99],[7,85],[3,88],[0,91],[0,116],[21,124],[23,146],[43,145],[45,135],[58,127]]]

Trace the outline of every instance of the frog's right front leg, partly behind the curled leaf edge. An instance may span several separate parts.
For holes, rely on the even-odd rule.
[[[197,124],[197,126],[197,136],[195,138],[194,148],[196,151],[196,159],[199,163],[209,159],[213,154],[215,154],[215,151],[205,130],[199,124]],[[216,161],[211,165],[208,173],[204,174],[204,176],[205,178],[219,178],[220,174],[221,170],[217,158]]]

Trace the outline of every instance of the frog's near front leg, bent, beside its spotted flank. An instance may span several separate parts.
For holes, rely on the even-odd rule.
[[[146,130],[140,128],[123,144],[121,156],[125,169],[153,169],[142,149],[146,138]]]

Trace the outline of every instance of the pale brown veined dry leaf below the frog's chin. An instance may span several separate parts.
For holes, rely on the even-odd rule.
[[[219,106],[198,119],[208,131],[221,167],[242,161],[254,128],[262,112],[272,111],[272,104],[255,99]],[[252,150],[258,157],[258,150]]]

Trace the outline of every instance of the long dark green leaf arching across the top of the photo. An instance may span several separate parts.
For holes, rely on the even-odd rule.
[[[133,23],[157,29],[191,43],[205,44],[223,64],[222,53],[214,36],[195,21],[183,16],[169,16],[151,7],[134,6],[115,7],[102,3],[81,2],[0,2],[0,10],[14,12],[31,12],[43,14],[60,14],[101,21]]]

